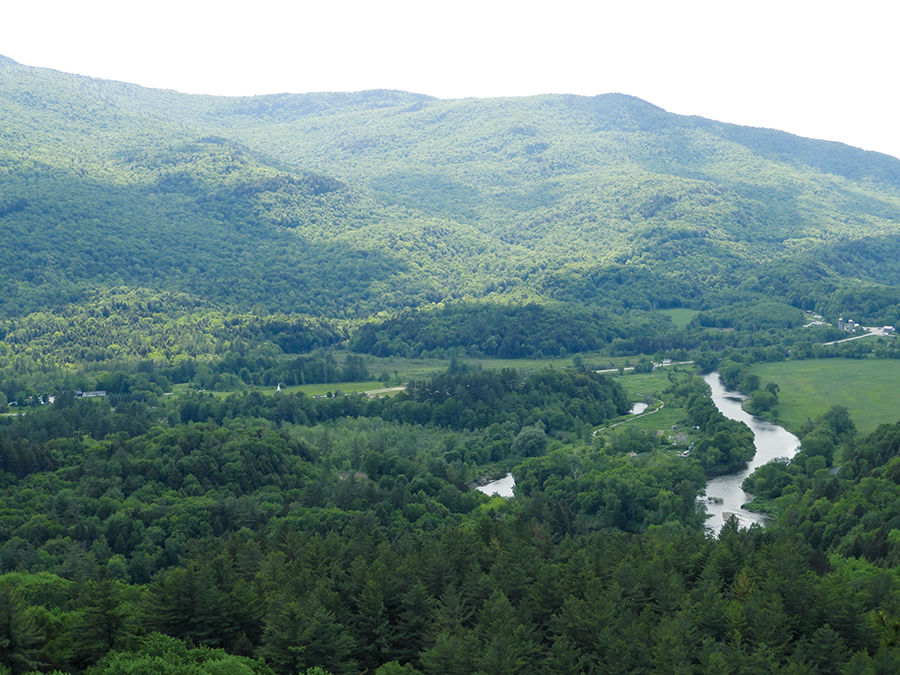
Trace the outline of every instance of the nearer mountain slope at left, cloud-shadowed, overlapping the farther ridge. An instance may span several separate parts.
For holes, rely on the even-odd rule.
[[[516,257],[217,135],[215,103],[0,63],[0,311],[124,284],[367,315],[483,294],[473,266]]]

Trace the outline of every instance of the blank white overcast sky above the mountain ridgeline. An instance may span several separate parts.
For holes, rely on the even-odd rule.
[[[0,54],[189,93],[622,92],[900,157],[897,0],[0,0]]]

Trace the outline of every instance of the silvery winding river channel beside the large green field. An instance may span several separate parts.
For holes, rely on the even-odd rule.
[[[719,373],[710,373],[703,380],[712,388],[713,403],[721,413],[725,417],[744,422],[750,427],[750,430],[753,431],[753,444],[756,446],[756,454],[747,463],[746,469],[718,476],[706,484],[707,498],[715,500],[704,500],[706,511],[710,514],[706,521],[706,528],[713,533],[718,533],[725,523],[725,518],[730,514],[737,516],[738,522],[743,527],[749,527],[753,523],[762,523],[767,516],[741,508],[751,499],[750,495],[741,489],[741,483],[757,467],[766,462],[770,462],[776,457],[793,457],[800,447],[800,439],[777,424],[754,417],[741,408],[744,396],[725,389],[719,381]],[[717,503],[718,500],[721,500],[721,503]]]

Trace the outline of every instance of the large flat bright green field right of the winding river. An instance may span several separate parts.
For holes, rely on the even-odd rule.
[[[900,360],[809,359],[762,363],[760,382],[778,385],[778,419],[797,430],[833,405],[845,406],[857,430],[900,421]]]

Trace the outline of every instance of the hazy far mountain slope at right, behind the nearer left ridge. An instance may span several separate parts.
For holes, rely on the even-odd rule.
[[[622,95],[430,101],[325,122],[235,133],[279,158],[365,181],[389,201],[510,241],[555,246],[564,233],[594,254],[622,230],[643,239],[660,227],[681,238],[699,230],[714,241],[813,245],[823,232],[893,231],[900,212],[900,160]]]

